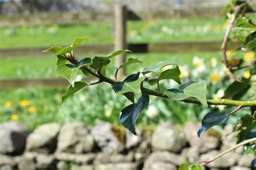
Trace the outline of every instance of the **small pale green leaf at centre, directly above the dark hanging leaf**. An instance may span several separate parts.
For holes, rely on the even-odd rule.
[[[145,79],[145,77],[139,77],[138,80],[132,82],[124,82],[122,89],[117,91],[117,94],[124,94],[128,91],[133,92],[134,94],[140,95],[140,83]]]

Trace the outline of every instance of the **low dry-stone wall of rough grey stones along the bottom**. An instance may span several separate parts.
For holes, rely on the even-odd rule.
[[[17,122],[0,124],[0,169],[178,169],[186,161],[212,158],[235,145],[233,125],[225,133],[209,131],[199,139],[200,123],[184,128],[165,122],[156,129],[138,128],[140,137],[122,126],[100,122],[49,123],[33,132]],[[227,137],[226,134],[229,134]],[[221,137],[225,137],[220,141]],[[250,169],[252,155],[243,148],[207,165],[209,169]]]

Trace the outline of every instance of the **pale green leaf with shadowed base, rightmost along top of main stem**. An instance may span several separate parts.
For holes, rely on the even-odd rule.
[[[200,83],[187,82],[181,85],[180,89],[168,89],[164,91],[164,95],[167,95],[172,100],[182,101],[188,97],[194,97],[201,104],[205,105],[205,107],[208,107],[206,93],[206,81]]]

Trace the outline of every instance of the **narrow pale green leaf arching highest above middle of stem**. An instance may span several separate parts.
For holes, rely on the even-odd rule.
[[[155,73],[155,72],[160,72],[160,69],[162,67],[165,67],[165,66],[169,66],[169,65],[180,65],[179,63],[177,62],[174,62],[174,61],[160,61],[160,62],[157,62],[157,63],[153,63],[152,65],[150,66],[147,66],[146,68],[143,69],[143,74],[147,74],[147,73]]]

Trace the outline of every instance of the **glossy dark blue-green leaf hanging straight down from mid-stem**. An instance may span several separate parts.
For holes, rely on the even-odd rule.
[[[133,134],[137,135],[135,129],[136,119],[139,113],[149,104],[149,95],[144,94],[137,103],[132,103],[120,112],[119,124],[123,124]]]

